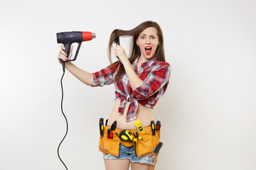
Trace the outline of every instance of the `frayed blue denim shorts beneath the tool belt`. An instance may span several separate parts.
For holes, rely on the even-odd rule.
[[[134,146],[125,147],[122,143],[119,144],[119,157],[112,154],[104,154],[104,159],[129,159],[130,162],[137,162],[141,164],[151,164],[154,165],[154,154],[146,154],[141,157],[136,157],[134,153]]]

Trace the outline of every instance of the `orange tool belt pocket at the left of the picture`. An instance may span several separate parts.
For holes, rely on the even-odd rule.
[[[107,137],[100,137],[99,150],[105,154],[112,154],[116,157],[119,156],[119,139],[107,139]]]

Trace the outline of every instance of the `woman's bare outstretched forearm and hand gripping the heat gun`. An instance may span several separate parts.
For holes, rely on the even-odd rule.
[[[58,61],[60,62],[60,59],[63,61],[68,60],[67,54],[63,51],[65,50],[65,47],[63,45],[60,46],[60,52],[57,55]],[[70,55],[69,58],[72,56],[72,50],[73,46],[70,48]],[[60,64],[62,64],[60,62]],[[85,72],[84,70],[78,68],[75,66],[75,64],[71,62],[65,62],[65,68],[68,69],[68,71],[73,74],[76,78],[78,78],[82,83],[86,84],[87,86],[91,86],[93,82],[93,75],[89,72]]]

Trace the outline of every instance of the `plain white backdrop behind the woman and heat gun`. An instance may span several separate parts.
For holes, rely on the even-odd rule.
[[[56,33],[96,33],[74,62],[96,72],[110,64],[112,30],[151,20],[172,67],[154,108],[164,142],[156,169],[255,170],[255,8],[254,0],[1,0],[0,169],[65,169]],[[63,85],[69,132],[60,156],[69,170],[104,169],[98,121],[110,115],[114,86],[85,86],[69,72]]]

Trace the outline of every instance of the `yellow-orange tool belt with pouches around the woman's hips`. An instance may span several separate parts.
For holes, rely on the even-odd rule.
[[[134,142],[122,141],[119,139],[117,134],[122,131],[122,129],[114,130],[113,139],[107,139],[107,130],[110,129],[109,126],[104,127],[104,135],[100,137],[99,150],[105,154],[112,154],[114,156],[119,156],[119,143],[126,147],[131,147]],[[135,133],[139,132],[139,137],[142,137],[142,141],[137,140],[137,155],[141,157],[145,154],[150,154],[154,152],[156,145],[160,142],[160,130],[156,130],[156,135],[152,135],[151,126],[144,127],[146,132],[139,132],[137,129],[128,130],[129,132]],[[117,132],[117,134],[116,134]]]

